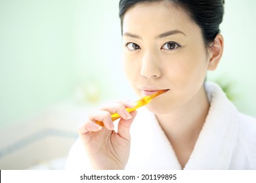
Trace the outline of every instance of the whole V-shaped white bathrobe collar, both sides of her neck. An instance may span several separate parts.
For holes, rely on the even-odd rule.
[[[205,83],[205,91],[210,103],[209,114],[184,169],[228,169],[238,138],[239,112],[217,84]],[[127,169],[181,169],[154,114],[142,111],[135,118],[135,126],[132,125],[131,137],[137,137],[131,141]]]

